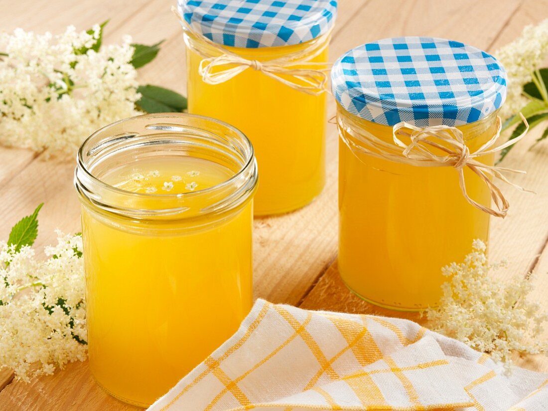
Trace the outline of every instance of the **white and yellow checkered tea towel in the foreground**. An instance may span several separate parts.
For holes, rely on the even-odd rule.
[[[238,332],[149,410],[548,410],[548,375],[404,319],[257,300]]]

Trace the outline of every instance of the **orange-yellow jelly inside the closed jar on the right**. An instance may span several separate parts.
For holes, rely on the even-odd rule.
[[[493,136],[495,119],[490,115],[458,127],[471,152]],[[355,116],[352,120],[355,127],[392,141],[392,127]],[[494,156],[477,160],[493,164]],[[489,205],[485,182],[470,169],[464,175],[469,196]],[[466,201],[454,168],[416,167],[357,154],[342,140],[339,212],[343,281],[363,299],[397,310],[437,305],[447,279],[442,267],[462,261],[473,239],[488,239],[489,215]]]

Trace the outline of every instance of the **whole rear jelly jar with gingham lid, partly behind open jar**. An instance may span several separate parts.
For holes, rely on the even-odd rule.
[[[255,215],[298,209],[323,189],[336,8],[336,0],[179,0],[189,112],[253,142]]]

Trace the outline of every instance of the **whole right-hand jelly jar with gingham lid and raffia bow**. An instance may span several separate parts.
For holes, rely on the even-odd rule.
[[[341,278],[375,305],[436,306],[442,267],[487,242],[489,213],[505,212],[490,208],[482,168],[494,162],[486,147],[500,132],[504,68],[463,43],[389,38],[341,56],[332,85]]]

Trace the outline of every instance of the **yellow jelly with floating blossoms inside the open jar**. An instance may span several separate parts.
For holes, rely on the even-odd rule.
[[[162,195],[207,189],[232,174],[179,157],[137,161],[101,180]],[[236,332],[250,310],[252,202],[202,224],[134,224],[83,207],[90,367],[123,401],[151,404]]]

